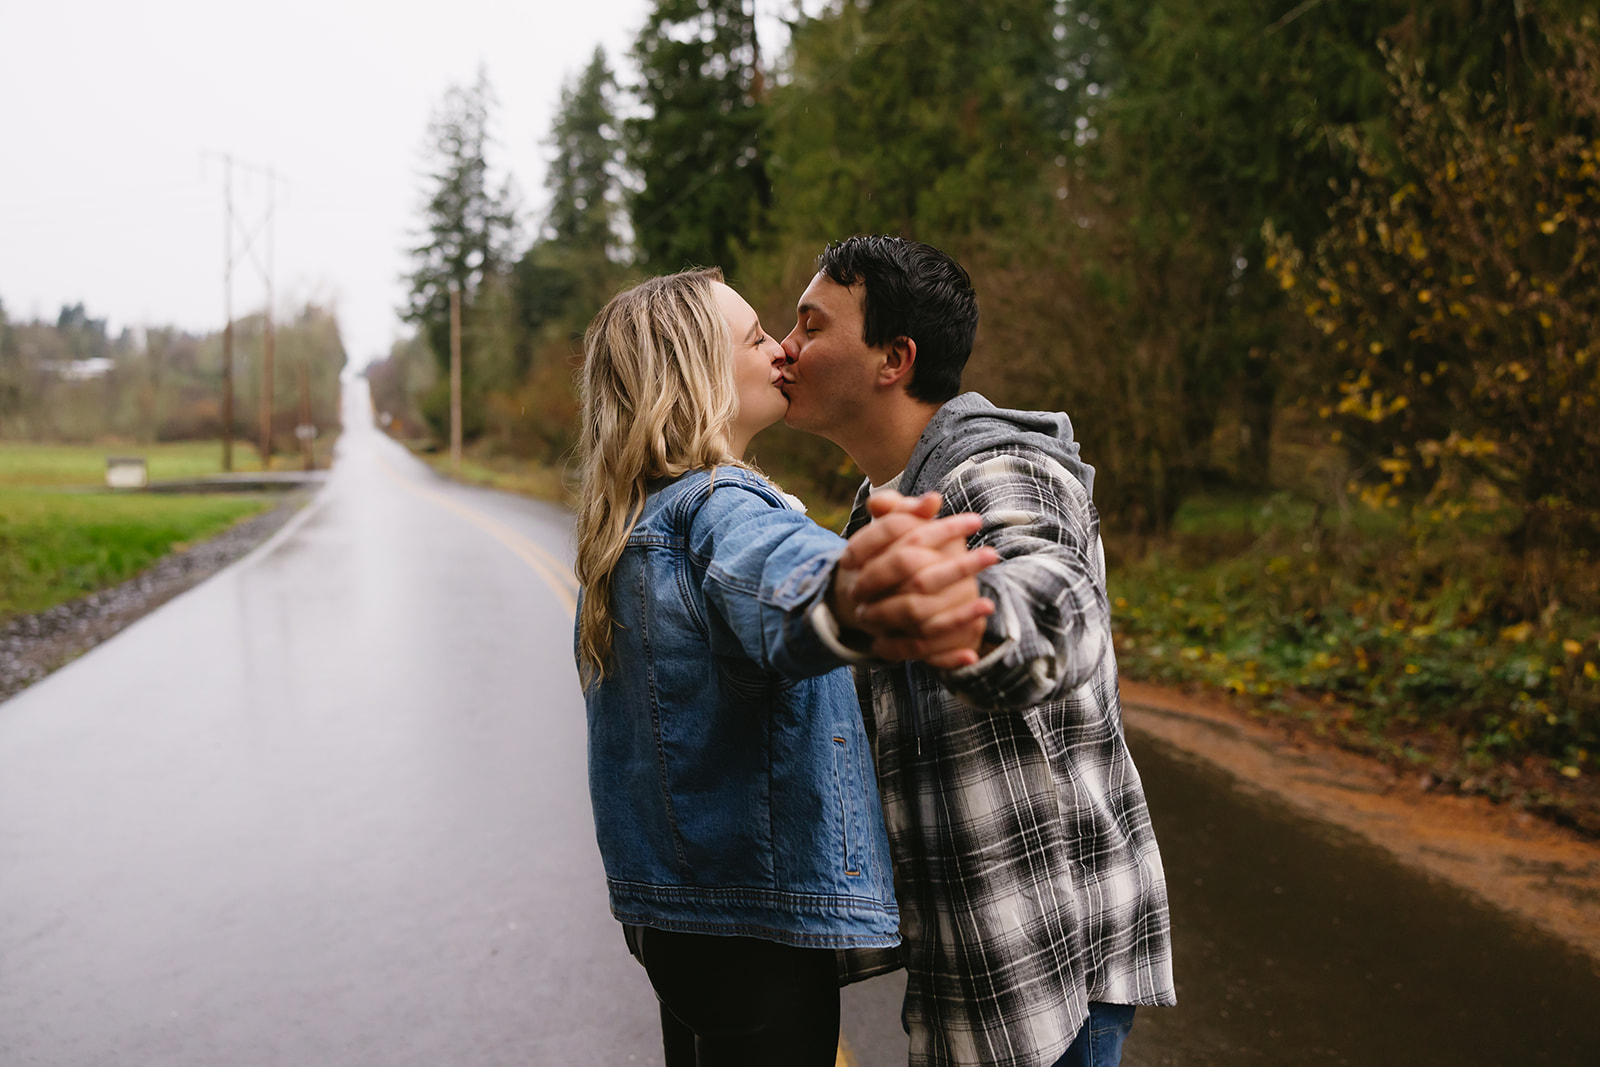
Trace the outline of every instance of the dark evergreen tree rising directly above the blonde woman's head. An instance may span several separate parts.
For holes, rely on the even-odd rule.
[[[632,58],[646,112],[626,125],[637,251],[654,272],[733,270],[771,198],[755,18],[744,0],[656,0]]]

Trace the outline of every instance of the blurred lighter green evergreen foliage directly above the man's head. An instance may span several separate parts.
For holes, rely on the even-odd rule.
[[[774,184],[797,237],[960,245],[1038,189],[1061,125],[1037,0],[846,0],[794,32],[774,94]]]

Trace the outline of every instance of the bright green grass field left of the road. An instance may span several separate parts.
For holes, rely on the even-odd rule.
[[[272,506],[259,496],[75,491],[104,485],[107,456],[144,456],[152,480],[221,470],[221,448],[208,442],[0,445],[0,619],[115,585]],[[237,470],[253,469],[246,459],[253,450],[235,450]]]

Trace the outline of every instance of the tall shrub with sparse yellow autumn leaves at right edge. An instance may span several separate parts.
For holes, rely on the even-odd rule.
[[[1531,85],[1482,93],[1386,50],[1390,123],[1341,134],[1358,173],[1328,229],[1304,253],[1264,226],[1350,490],[1422,499],[1424,526],[1507,515],[1530,614],[1573,600],[1552,571],[1600,542],[1600,22],[1552,21],[1544,46]]]

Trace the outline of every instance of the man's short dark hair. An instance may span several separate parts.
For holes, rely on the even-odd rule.
[[[866,288],[861,339],[869,346],[917,342],[906,387],[914,400],[944,403],[962,390],[978,334],[978,293],[962,264],[904,237],[858,234],[822,250],[816,269],[845,288]]]

